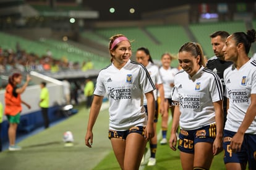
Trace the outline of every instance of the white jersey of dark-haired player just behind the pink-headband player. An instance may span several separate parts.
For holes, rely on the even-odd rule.
[[[156,85],[156,84],[160,85],[163,83],[161,76],[160,76],[158,66],[156,66],[152,62],[148,62],[148,66],[146,66],[146,69],[148,70],[148,73],[150,74],[151,80],[153,81],[154,85]],[[157,99],[157,91],[154,90],[153,93],[154,93],[154,97],[156,100]],[[144,105],[147,104],[147,98],[145,98],[145,96],[144,96],[143,103],[144,103]]]

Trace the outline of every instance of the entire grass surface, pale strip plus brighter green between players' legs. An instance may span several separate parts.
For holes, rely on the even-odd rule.
[[[96,121],[93,130],[93,148],[88,148],[84,144],[89,115],[84,105],[75,106],[79,109],[79,113],[74,116],[22,140],[19,143],[23,148],[21,151],[6,150],[0,153],[0,169],[120,169],[108,139],[109,116],[106,109],[108,104],[103,104],[105,109],[101,111]],[[158,133],[160,122],[161,117]],[[67,130],[74,135],[74,147],[64,147],[62,135]],[[216,156],[211,169],[225,169],[222,158],[222,153]],[[172,151],[168,145],[158,145],[156,160],[156,166],[148,167],[143,164],[140,169],[181,169],[179,152]]]

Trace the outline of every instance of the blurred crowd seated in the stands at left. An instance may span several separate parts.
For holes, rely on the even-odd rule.
[[[93,69],[92,61],[71,62],[67,57],[55,59],[51,51],[48,49],[46,53],[39,56],[36,53],[27,53],[24,49],[20,49],[19,43],[16,50],[2,49],[0,46],[0,73],[8,73],[14,71],[30,71],[38,72],[59,72],[62,70],[83,70]]]

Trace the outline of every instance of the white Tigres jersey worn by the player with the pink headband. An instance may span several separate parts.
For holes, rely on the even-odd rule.
[[[113,64],[102,69],[93,94],[108,96],[109,129],[128,130],[147,124],[143,93],[153,90],[155,85],[145,67],[129,60],[120,70]]]

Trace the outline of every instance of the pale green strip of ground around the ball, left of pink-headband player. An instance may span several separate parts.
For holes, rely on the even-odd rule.
[[[112,150],[108,139],[108,109],[101,111],[94,127],[93,148],[85,146],[84,137],[89,116],[85,105],[79,113],[47,130],[25,138],[18,143],[20,151],[0,153],[0,169],[93,169]],[[74,147],[64,147],[62,135],[70,130]]]

